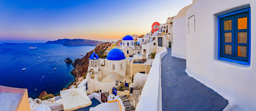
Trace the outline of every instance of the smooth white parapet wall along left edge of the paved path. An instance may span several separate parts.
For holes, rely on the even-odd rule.
[[[166,48],[156,54],[136,111],[162,111],[161,59],[166,54]]]

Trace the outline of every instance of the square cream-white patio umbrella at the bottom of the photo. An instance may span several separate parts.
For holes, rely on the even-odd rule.
[[[81,88],[60,91],[64,111],[72,111],[92,104],[89,97]]]

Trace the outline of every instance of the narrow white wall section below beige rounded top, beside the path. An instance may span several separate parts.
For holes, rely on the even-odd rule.
[[[172,56],[186,59],[186,16],[173,20]]]

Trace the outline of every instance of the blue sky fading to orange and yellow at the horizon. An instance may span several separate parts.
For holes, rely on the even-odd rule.
[[[0,42],[146,34],[192,0],[0,0]]]

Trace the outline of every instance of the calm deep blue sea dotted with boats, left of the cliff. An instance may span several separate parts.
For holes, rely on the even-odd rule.
[[[28,49],[31,46],[37,49]],[[64,60],[69,57],[75,61],[94,48],[44,43],[0,45],[0,85],[27,88],[32,98],[43,91],[58,94],[75,80],[70,74],[74,67]],[[22,71],[23,68],[26,70]]]

